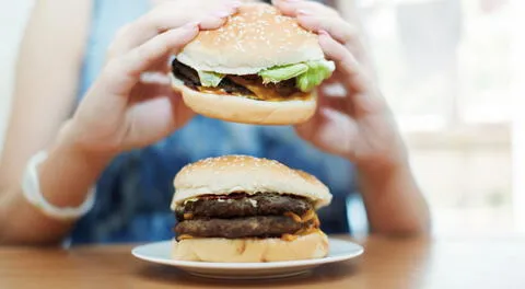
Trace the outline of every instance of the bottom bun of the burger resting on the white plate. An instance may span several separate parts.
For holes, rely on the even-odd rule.
[[[281,239],[199,238],[173,242],[172,257],[200,262],[279,262],[322,258],[328,254],[328,238],[322,231],[294,241]]]

